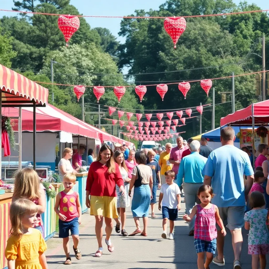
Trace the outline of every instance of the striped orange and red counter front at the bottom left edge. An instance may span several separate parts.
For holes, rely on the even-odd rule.
[[[0,268],[4,268],[8,265],[5,257],[5,249],[11,228],[9,220],[10,204],[11,202],[0,204]]]

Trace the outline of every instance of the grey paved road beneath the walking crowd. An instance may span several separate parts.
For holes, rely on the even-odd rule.
[[[158,199],[157,199],[158,200]],[[83,214],[82,226],[80,228],[79,248],[82,252],[82,259],[76,260],[72,253],[73,268],[111,268],[111,269],[141,269],[141,268],[164,268],[164,269],[195,269],[196,252],[193,245],[193,237],[187,235],[188,226],[182,220],[185,211],[185,204],[182,203],[182,209],[179,213],[178,221],[175,224],[175,240],[162,239],[162,217],[161,212],[156,211],[157,218],[149,218],[148,237],[136,235],[134,237],[125,237],[116,234],[115,229],[112,233],[112,243],[115,251],[109,253],[105,240],[104,251],[101,258],[93,257],[98,249],[97,240],[94,231],[94,217],[90,214]],[[134,221],[130,208],[127,212],[126,231],[128,233],[134,230]],[[251,269],[251,256],[247,254],[247,236],[244,234],[244,244],[242,251],[242,267],[243,269]],[[49,269],[66,268],[62,263],[65,261],[65,255],[62,249],[62,240],[55,235],[54,238],[47,241],[48,251],[46,252]],[[72,249],[72,238],[69,241]],[[211,264],[210,268],[233,268],[233,250],[231,245],[231,233],[227,232],[225,245],[225,267],[218,267]]]

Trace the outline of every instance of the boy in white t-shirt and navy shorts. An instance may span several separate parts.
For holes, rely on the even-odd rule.
[[[178,211],[180,210],[180,189],[178,184],[174,183],[175,172],[168,170],[164,173],[165,184],[161,186],[161,193],[159,197],[159,210],[162,209],[162,238],[167,238],[167,220],[170,221],[169,239],[174,239],[174,221],[178,218]],[[161,208],[162,202],[162,208]]]

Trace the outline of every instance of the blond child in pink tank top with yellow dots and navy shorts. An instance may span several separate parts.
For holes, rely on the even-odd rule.
[[[78,249],[79,244],[79,225],[81,224],[81,206],[79,194],[72,190],[76,183],[76,176],[73,173],[66,173],[63,177],[64,190],[56,196],[54,210],[59,215],[59,238],[63,238],[63,250],[66,260],[64,264],[71,264],[69,251],[69,230],[73,238],[73,250],[76,259],[81,259],[81,252]]]

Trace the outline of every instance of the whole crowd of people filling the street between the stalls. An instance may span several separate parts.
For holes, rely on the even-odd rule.
[[[122,236],[140,234],[148,236],[148,215],[156,218],[155,204],[162,211],[162,238],[174,239],[174,222],[181,208],[184,193],[186,211],[183,219],[189,223],[189,236],[194,236],[199,269],[208,269],[211,262],[225,265],[224,238],[226,228],[232,235],[234,252],[233,268],[241,269],[242,227],[249,230],[248,253],[252,255],[252,268],[266,268],[269,253],[268,194],[269,155],[268,145],[259,145],[255,154],[248,148],[233,145],[235,132],[231,127],[221,129],[220,148],[212,150],[207,140],[183,140],[177,137],[177,146],[167,143],[163,149],[136,151],[121,145],[113,151],[102,145],[91,162],[86,183],[86,206],[95,217],[95,234],[98,250],[95,257],[103,254],[103,222],[105,222],[105,245],[114,251],[111,234]],[[63,238],[66,255],[64,264],[71,264],[69,231],[73,239],[76,259],[82,258],[79,245],[81,205],[79,194],[72,190],[76,182],[84,149],[79,149],[73,162],[73,151],[66,148],[59,162],[64,190],[56,196],[55,212],[59,215],[59,238]],[[75,154],[74,154],[75,155]],[[251,162],[252,160],[252,162]],[[255,161],[255,166],[252,164]],[[255,174],[254,174],[254,170]],[[160,196],[157,201],[157,189]],[[132,201],[130,197],[132,197]],[[45,211],[45,190],[37,173],[29,168],[15,175],[15,192],[10,207],[11,235],[5,251],[9,269],[17,265],[30,268],[47,268],[46,243],[40,214]],[[126,230],[126,208],[131,207],[135,229]],[[143,229],[140,226],[143,221]],[[169,220],[169,233],[167,225]],[[161,226],[161,225],[160,225]],[[33,229],[35,228],[35,229]],[[25,244],[33,247],[26,249]],[[217,255],[214,257],[215,251]],[[204,260],[206,258],[206,260]]]

